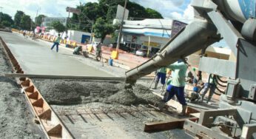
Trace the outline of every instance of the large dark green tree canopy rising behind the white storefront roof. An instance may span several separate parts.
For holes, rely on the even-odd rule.
[[[80,4],[77,8],[81,10],[81,13],[73,14],[70,24],[80,24],[78,25],[78,29],[90,32],[90,21],[96,21],[98,18],[102,18],[107,23],[112,23],[118,4],[124,6],[124,0],[99,0],[98,3],[88,2],[87,4]],[[135,2],[128,1],[127,9],[129,10],[130,17],[163,18],[157,11],[145,9]]]

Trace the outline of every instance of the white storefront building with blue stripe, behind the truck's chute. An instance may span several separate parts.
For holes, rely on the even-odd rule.
[[[115,19],[113,24],[117,22],[118,20]],[[176,22],[179,22],[182,28],[186,25],[180,21]],[[175,35],[173,33],[174,23],[175,21],[170,19],[124,21],[122,42],[131,50],[147,50],[148,53],[152,52],[154,54]],[[182,29],[181,27],[179,27],[179,30]]]

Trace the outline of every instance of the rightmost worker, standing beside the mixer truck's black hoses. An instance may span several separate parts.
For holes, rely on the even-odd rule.
[[[206,95],[206,93],[210,89],[208,99],[207,99],[206,103],[211,104],[210,101],[211,101],[212,95],[214,94],[215,89],[216,89],[216,87],[215,87],[215,76],[216,75],[210,74],[209,77],[208,77],[208,82],[203,85],[201,102],[203,102],[204,96]]]

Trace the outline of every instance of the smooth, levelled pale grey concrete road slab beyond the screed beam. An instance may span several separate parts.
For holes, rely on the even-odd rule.
[[[68,56],[73,55],[71,51],[61,48],[58,52],[55,48],[50,50],[51,44],[47,42],[24,38],[17,33],[0,32],[0,36],[26,74],[112,77],[107,72],[90,67]]]

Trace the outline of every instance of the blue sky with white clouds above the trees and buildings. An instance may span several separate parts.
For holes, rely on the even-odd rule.
[[[194,18],[191,0],[129,0],[157,10],[166,19],[190,22]],[[17,10],[22,10],[31,18],[38,14],[48,17],[67,17],[66,7],[76,7],[81,3],[98,2],[98,0],[0,0],[3,13],[14,17]],[[213,44],[215,47],[226,47],[224,41]]]

